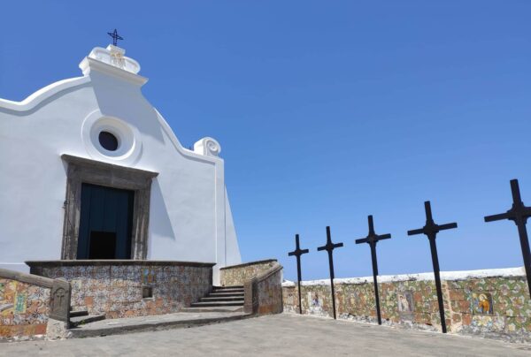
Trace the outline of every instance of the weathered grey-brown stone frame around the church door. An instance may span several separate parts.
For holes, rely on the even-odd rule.
[[[148,255],[151,182],[158,176],[158,172],[133,169],[67,154],[62,155],[61,158],[68,164],[61,259],[77,259],[81,184],[87,183],[135,192],[131,259],[145,260]]]

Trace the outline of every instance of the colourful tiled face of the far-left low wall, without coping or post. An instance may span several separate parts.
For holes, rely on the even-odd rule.
[[[50,289],[0,277],[0,338],[46,334]]]

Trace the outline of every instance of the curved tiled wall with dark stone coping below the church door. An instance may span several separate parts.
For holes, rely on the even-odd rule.
[[[68,281],[72,285],[73,310],[86,308],[90,315],[118,318],[169,314],[188,308],[212,291],[214,264],[102,260],[27,265],[32,274]]]

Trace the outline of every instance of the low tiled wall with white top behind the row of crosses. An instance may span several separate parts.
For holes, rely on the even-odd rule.
[[[447,329],[531,343],[531,299],[523,268],[442,272]],[[382,324],[441,330],[433,274],[378,277]],[[298,313],[297,286],[282,284],[284,311]],[[329,280],[302,282],[303,314],[332,316]],[[373,277],[335,279],[339,318],[376,323]]]

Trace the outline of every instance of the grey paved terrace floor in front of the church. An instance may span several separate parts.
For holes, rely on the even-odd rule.
[[[5,356],[530,356],[531,346],[291,314],[190,329],[0,344]]]

